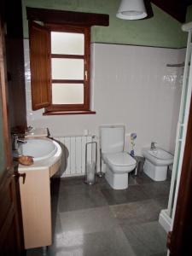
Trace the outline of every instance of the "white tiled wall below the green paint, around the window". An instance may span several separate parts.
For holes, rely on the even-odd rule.
[[[32,112],[26,39],[25,54],[28,125],[49,127],[56,137],[81,135],[85,129],[97,135],[99,125],[125,124],[127,133],[137,132],[137,154],[151,141],[174,151],[182,68],[166,64],[183,61],[182,50],[92,44],[92,110],[96,114],[58,116],[43,116],[42,110]]]

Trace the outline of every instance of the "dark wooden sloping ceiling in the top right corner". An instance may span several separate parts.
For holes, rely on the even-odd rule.
[[[185,22],[188,6],[192,4],[192,0],[151,0],[151,2],[182,23]]]

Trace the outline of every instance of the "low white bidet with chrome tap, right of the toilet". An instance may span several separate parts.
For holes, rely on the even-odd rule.
[[[173,155],[162,148],[143,148],[145,162],[143,172],[154,181],[165,181],[167,177],[167,168],[173,163]]]

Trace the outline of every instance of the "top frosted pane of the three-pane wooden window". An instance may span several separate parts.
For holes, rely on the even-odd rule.
[[[51,53],[84,55],[84,34],[51,32]]]

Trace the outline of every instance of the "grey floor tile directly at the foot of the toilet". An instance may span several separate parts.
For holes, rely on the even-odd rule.
[[[143,193],[140,185],[130,185],[128,189],[101,189],[109,205],[125,204],[131,201],[143,201],[148,195]]]

